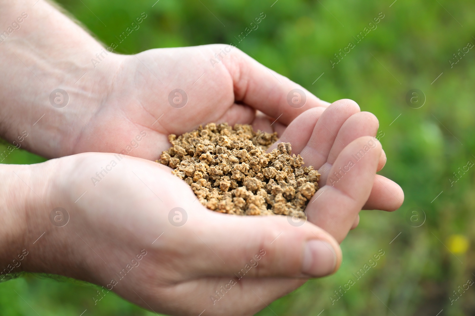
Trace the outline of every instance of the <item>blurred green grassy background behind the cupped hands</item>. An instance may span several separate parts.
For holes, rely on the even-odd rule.
[[[309,281],[257,315],[475,315],[475,287],[450,300],[475,280],[475,168],[454,176],[475,163],[475,49],[453,67],[449,62],[475,44],[474,1],[274,1],[58,2],[107,46],[145,12],[140,29],[117,48],[124,54],[237,42],[234,36],[264,12],[237,47],[321,99],[353,99],[379,118],[388,156],[380,173],[402,186],[403,206],[361,212],[360,226],[342,243],[338,273]],[[353,36],[382,15],[357,43]],[[349,42],[355,47],[332,68],[330,60]],[[408,103],[412,89],[422,93]],[[43,160],[20,149],[3,163]],[[451,179],[458,180],[451,185]],[[377,265],[357,280],[352,273],[380,249]],[[332,304],[349,279],[355,284]],[[114,294],[94,306],[95,286],[35,275],[0,284],[1,315],[33,315],[14,290],[41,316],[79,316],[85,309],[85,316],[153,315]]]

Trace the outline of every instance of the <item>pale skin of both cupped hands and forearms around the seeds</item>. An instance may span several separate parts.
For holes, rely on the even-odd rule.
[[[204,309],[206,315],[252,315],[308,278],[338,270],[339,243],[357,226],[361,209],[401,205],[399,186],[376,175],[386,162],[372,137],[378,120],[355,102],[329,105],[237,48],[213,67],[209,59],[227,45],[108,52],[94,68],[91,59],[103,46],[47,2],[35,2],[0,1],[0,30],[28,13],[0,44],[0,86],[7,87],[0,91],[0,132],[13,141],[26,130],[23,148],[63,158],[0,168],[8,183],[0,195],[0,267],[27,249],[15,271],[56,273],[111,288],[116,273],[144,249],[140,266],[112,287],[123,298],[172,315]],[[69,95],[65,108],[49,103],[57,88]],[[189,97],[184,108],[168,102],[176,88]],[[286,101],[295,88],[307,96],[299,109]],[[170,146],[168,134],[208,122],[276,130],[320,170],[322,188],[305,210],[304,225],[292,226],[283,216],[211,212],[170,168],[150,161]],[[120,153],[141,131],[146,136],[129,153],[138,158],[118,161],[111,153]],[[374,146],[351,171],[332,182],[333,172],[370,142]],[[111,160],[117,165],[93,183],[91,177]],[[64,227],[50,222],[57,207],[69,213]],[[180,227],[169,222],[176,207],[188,217]],[[257,261],[261,250],[265,255]],[[239,280],[235,273],[251,260],[258,264]],[[213,300],[230,280],[236,284]]]

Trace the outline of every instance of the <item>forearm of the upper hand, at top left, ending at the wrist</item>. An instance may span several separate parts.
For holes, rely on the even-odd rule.
[[[28,150],[70,154],[100,106],[112,80],[105,70],[117,55],[45,0],[1,0],[0,21],[0,136],[14,141],[26,131]],[[96,54],[104,63],[91,63]],[[66,91],[66,107],[66,95],[53,93],[50,101],[56,89]]]

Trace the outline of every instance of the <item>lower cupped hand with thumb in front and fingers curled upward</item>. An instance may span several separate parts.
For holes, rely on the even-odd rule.
[[[365,203],[371,208],[382,199],[385,204],[381,206],[393,209],[398,201],[387,201],[385,191],[371,200],[375,181],[385,181],[375,180],[384,155],[380,143],[369,136],[377,130],[374,116],[359,112],[348,100],[319,111],[305,111],[280,136],[281,141],[293,144],[292,153],[300,154],[321,174],[314,184],[320,189],[306,201],[308,221],[303,225],[292,225],[291,217],[282,215],[232,216],[210,211],[197,199],[186,177],[180,179],[161,163],[83,153],[17,171],[32,190],[22,199],[28,201],[28,234],[47,232],[38,241],[42,255],[28,256],[24,269],[88,280],[146,308],[176,315],[199,315],[204,309],[209,315],[249,315],[265,307],[255,299],[256,294],[265,302],[272,301],[309,277],[333,273],[342,260],[338,242],[354,226]],[[266,138],[262,142],[266,145]],[[277,142],[268,148],[271,153],[273,146],[281,153],[290,151],[288,145]],[[295,159],[298,161],[297,156]],[[107,167],[112,165],[112,170]],[[99,182],[91,181],[101,167],[109,171]],[[267,173],[266,168],[262,171],[269,175],[269,182],[272,177],[276,181],[277,173]],[[58,170],[61,172],[55,172]],[[346,173],[339,173],[341,170]],[[332,178],[333,172],[340,178]],[[18,182],[14,187],[24,186],[17,176],[13,181]],[[402,192],[391,183],[387,180],[386,187],[402,199]],[[38,203],[33,191],[44,203]],[[70,216],[61,229],[48,219],[58,205]],[[18,204],[10,206],[17,208]],[[142,250],[147,255],[140,266],[117,281],[116,271],[122,271]],[[243,305],[243,301],[252,303]]]

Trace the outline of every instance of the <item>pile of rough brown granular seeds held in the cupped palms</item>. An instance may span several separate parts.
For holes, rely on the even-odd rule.
[[[266,149],[277,133],[254,132],[250,125],[209,123],[180,136],[157,163],[188,183],[202,205],[237,215],[282,214],[305,218],[304,209],[318,190],[320,173],[292,155],[290,143]]]

